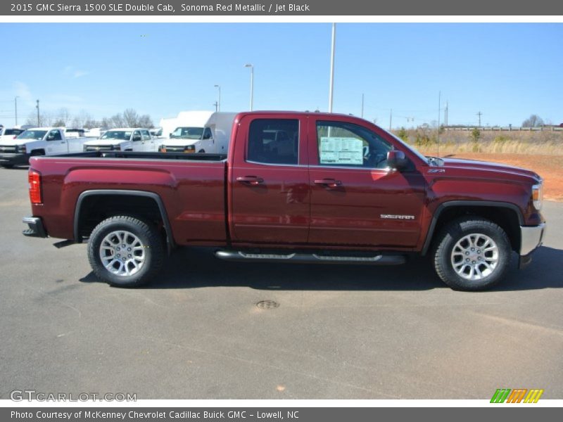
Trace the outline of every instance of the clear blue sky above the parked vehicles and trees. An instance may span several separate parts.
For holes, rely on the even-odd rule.
[[[42,110],[101,118],[134,108],[160,117],[248,110],[328,109],[329,23],[0,23],[0,123]],[[563,24],[339,23],[334,112],[388,127],[519,125],[531,113],[563,122]],[[414,117],[414,123],[407,121]],[[443,113],[441,113],[443,119]]]

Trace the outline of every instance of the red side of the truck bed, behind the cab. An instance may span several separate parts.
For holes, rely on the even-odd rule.
[[[49,236],[76,239],[75,209],[84,193],[141,191],[160,198],[177,245],[224,243],[226,158],[127,151],[32,157],[30,170],[43,180],[43,203],[32,205],[32,212],[44,219]],[[118,201],[118,195],[112,198]]]

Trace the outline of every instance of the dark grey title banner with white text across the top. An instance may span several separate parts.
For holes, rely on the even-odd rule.
[[[563,15],[553,0],[23,0],[1,1],[0,15]]]

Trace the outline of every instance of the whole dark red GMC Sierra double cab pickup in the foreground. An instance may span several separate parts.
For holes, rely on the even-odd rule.
[[[542,243],[543,181],[529,170],[424,157],[349,115],[240,113],[227,155],[31,158],[26,236],[88,239],[114,286],[158,274],[167,251],[224,260],[402,264],[429,255],[448,286],[498,282]]]

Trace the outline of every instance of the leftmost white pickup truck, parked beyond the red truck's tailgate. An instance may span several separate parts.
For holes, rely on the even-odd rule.
[[[82,145],[91,138],[65,136],[60,127],[34,127],[12,139],[0,141],[0,166],[27,165],[36,155],[81,153]]]

